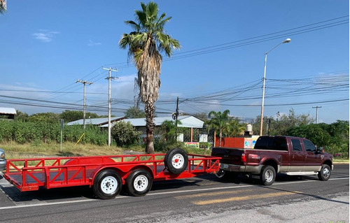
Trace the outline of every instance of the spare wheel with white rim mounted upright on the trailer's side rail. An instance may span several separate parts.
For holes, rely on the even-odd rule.
[[[170,173],[182,173],[188,166],[188,155],[182,149],[174,148],[165,154],[164,164]]]

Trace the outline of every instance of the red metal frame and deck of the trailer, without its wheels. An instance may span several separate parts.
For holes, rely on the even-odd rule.
[[[128,176],[140,169],[148,172],[151,175],[151,181],[154,181],[192,178],[204,173],[216,172],[220,168],[220,157],[198,154],[187,156],[186,169],[178,174],[171,173],[167,168],[166,154],[9,159],[3,177],[21,192],[27,192],[38,190],[40,187],[45,189],[83,185],[94,187],[97,175],[109,170],[116,172],[120,176],[121,185],[125,185]],[[179,160],[175,158],[173,162]],[[116,183],[118,184],[118,180]]]

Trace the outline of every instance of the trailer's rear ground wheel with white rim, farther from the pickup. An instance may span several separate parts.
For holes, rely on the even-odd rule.
[[[116,171],[101,171],[94,178],[93,191],[100,199],[114,199],[121,189],[122,179]]]

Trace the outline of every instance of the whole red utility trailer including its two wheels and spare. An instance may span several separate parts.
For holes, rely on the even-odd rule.
[[[154,180],[215,173],[220,159],[178,148],[167,154],[8,159],[3,177],[21,192],[89,185],[100,199],[113,199],[123,185],[130,194],[144,196]]]

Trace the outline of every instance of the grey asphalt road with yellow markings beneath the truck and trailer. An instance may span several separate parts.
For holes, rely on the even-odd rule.
[[[154,182],[146,196],[94,198],[89,187],[19,192],[0,175],[0,222],[349,222],[349,165],[330,180],[278,175],[274,185],[215,175]]]

